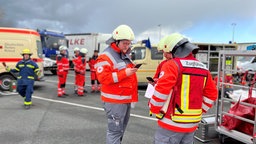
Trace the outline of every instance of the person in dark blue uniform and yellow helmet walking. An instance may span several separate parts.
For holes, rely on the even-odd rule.
[[[23,59],[16,64],[15,69],[6,67],[6,70],[14,73],[19,72],[17,91],[24,98],[25,109],[30,109],[32,105],[34,81],[35,78],[40,75],[41,71],[38,65],[30,59],[32,53],[29,49],[23,49],[21,55]]]

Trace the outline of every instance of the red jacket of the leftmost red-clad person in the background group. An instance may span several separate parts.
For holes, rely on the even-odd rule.
[[[69,61],[65,55],[58,54],[56,57],[56,63],[57,63],[57,74],[58,75],[63,75],[63,74],[68,73]]]

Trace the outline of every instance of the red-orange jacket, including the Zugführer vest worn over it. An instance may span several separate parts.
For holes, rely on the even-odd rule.
[[[190,54],[163,65],[149,102],[150,110],[161,113],[168,97],[167,112],[158,120],[158,125],[176,132],[193,132],[202,112],[211,108],[217,99],[217,89],[205,65]]]

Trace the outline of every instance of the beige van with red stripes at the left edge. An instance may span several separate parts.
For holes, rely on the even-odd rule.
[[[6,66],[15,68],[18,61],[22,59],[21,52],[28,48],[33,55],[41,75],[37,80],[43,78],[43,52],[40,35],[35,30],[0,27],[0,90],[7,91],[12,80],[16,79],[15,73],[6,72]]]

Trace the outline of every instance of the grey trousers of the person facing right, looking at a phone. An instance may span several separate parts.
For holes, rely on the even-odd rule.
[[[131,104],[103,103],[108,120],[106,144],[121,144],[130,118]]]

